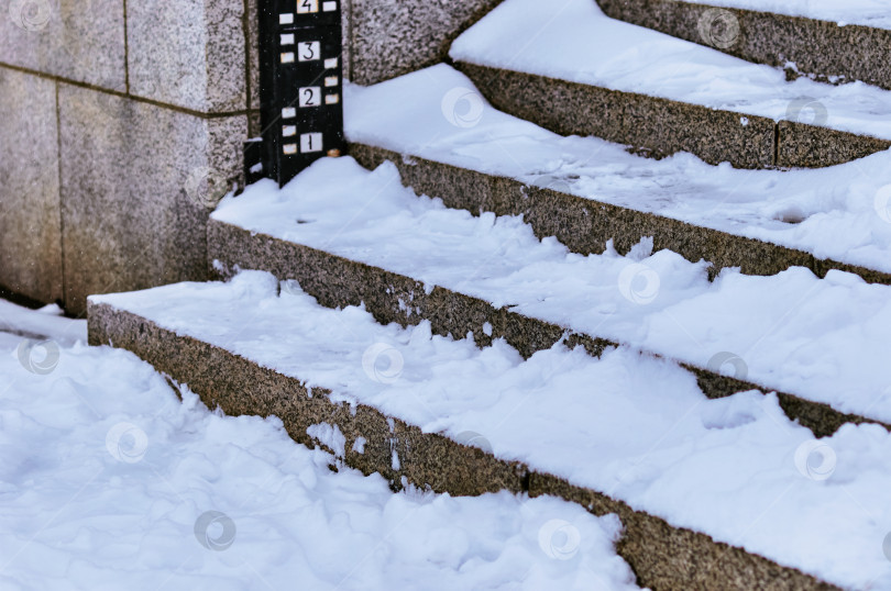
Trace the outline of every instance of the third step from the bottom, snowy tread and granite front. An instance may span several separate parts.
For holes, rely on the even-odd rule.
[[[642,236],[714,270],[791,266],[891,283],[891,152],[817,170],[738,170],[689,154],[652,160],[562,137],[493,109],[446,65],[345,89],[346,135],[366,167],[389,159],[417,192],[473,213],[524,215],[578,253]]]

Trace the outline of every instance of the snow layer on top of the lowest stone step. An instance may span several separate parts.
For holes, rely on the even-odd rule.
[[[814,439],[774,395],[708,400],[666,360],[624,348],[594,359],[561,344],[524,360],[503,341],[479,349],[432,336],[427,321],[406,330],[321,308],[258,271],[94,301],[426,432],[480,434],[498,457],[843,587],[891,586],[891,434],[877,425]]]

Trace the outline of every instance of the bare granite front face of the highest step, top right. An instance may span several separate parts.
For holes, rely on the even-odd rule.
[[[597,0],[597,3],[614,19],[715,46],[710,43],[712,30],[706,15],[714,7],[707,2]],[[791,62],[799,73],[817,80],[840,77],[840,81],[862,80],[891,89],[891,31],[854,24],[839,26],[770,12],[721,10],[738,24],[738,34],[726,37],[723,46],[716,47],[725,53],[780,68]],[[706,35],[700,26],[703,19]]]

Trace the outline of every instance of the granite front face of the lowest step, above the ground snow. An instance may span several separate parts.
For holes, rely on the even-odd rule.
[[[366,442],[372,442],[375,439],[374,434],[372,433],[372,431],[375,431],[378,438],[377,447],[382,445],[380,442],[381,437],[384,439],[391,439],[389,445],[392,446],[393,443],[389,435],[395,435],[397,441],[399,441],[399,436],[402,436],[402,441],[404,443],[410,442],[411,439],[409,437],[411,436],[420,437],[420,441],[424,443],[432,441],[435,450],[438,449],[440,451],[447,451],[447,454],[462,454],[464,459],[474,458],[477,461],[485,458],[487,466],[492,466],[494,462],[498,465],[503,473],[513,473],[513,476],[508,478],[508,481],[515,480],[515,487],[502,487],[501,484],[488,482],[488,479],[485,479],[488,487],[472,488],[470,492],[471,494],[497,492],[498,490],[509,490],[514,494],[527,493],[530,497],[549,494],[562,498],[570,502],[582,504],[582,506],[595,515],[616,513],[624,525],[624,534],[617,544],[616,550],[626,561],[628,561],[629,565],[631,565],[631,568],[635,570],[638,577],[641,575],[644,576],[644,584],[649,584],[653,589],[669,589],[676,588],[678,584],[693,583],[693,581],[689,581],[686,579],[678,580],[676,575],[672,576],[672,573],[666,572],[664,565],[678,561],[678,555],[680,554],[680,548],[678,546],[679,537],[686,542],[686,553],[684,558],[689,560],[688,557],[695,557],[695,561],[693,562],[694,566],[702,565],[703,558],[705,556],[708,557],[711,567],[706,572],[708,575],[717,572],[718,576],[707,580],[715,580],[716,582],[726,583],[727,575],[730,575],[734,577],[733,582],[736,583],[736,587],[739,589],[746,589],[749,588],[752,582],[750,580],[751,572],[755,570],[761,573],[760,578],[757,580],[770,582],[771,588],[776,589],[838,589],[837,587],[822,581],[812,575],[805,573],[795,567],[783,566],[758,554],[746,551],[743,548],[730,546],[726,543],[716,542],[705,533],[695,532],[685,527],[672,526],[661,517],[642,511],[634,510],[624,501],[612,499],[610,497],[596,490],[586,487],[573,486],[566,480],[554,477],[544,471],[529,470],[528,467],[520,462],[497,458],[496,456],[487,454],[482,449],[468,447],[463,444],[453,442],[441,434],[422,433],[417,426],[413,426],[398,419],[388,417],[386,414],[374,409],[373,406],[356,404],[355,412],[353,413],[352,410],[349,409],[348,404],[343,402],[333,402],[328,399],[328,394],[331,393],[330,390],[324,390],[321,388],[314,389],[317,393],[314,393],[312,398],[309,398],[306,395],[305,383],[297,378],[288,377],[275,370],[264,368],[260,364],[241,357],[228,349],[205,343],[189,335],[177,334],[176,332],[164,328],[154,321],[133,312],[129,312],[109,303],[88,303],[88,309],[89,344],[91,346],[111,344],[111,346],[124,348],[125,350],[130,350],[148,364],[153,365],[157,370],[167,373],[177,382],[187,383],[190,386],[195,384],[194,391],[210,409],[219,406],[223,410],[223,412],[230,415],[276,415],[282,419],[283,422],[288,422],[289,416],[287,413],[278,414],[274,412],[276,406],[272,403],[270,403],[272,405],[266,408],[261,404],[261,409],[251,409],[245,408],[243,404],[230,401],[230,398],[238,394],[243,394],[244,389],[237,384],[230,384],[228,382],[229,378],[227,377],[227,372],[224,371],[215,371],[208,369],[206,373],[211,377],[210,383],[213,386],[210,386],[209,389],[205,388],[205,384],[202,384],[200,380],[196,381],[194,373],[191,373],[197,369],[196,364],[185,361],[185,365],[183,365],[184,359],[193,358],[209,363],[209,359],[217,357],[229,365],[241,366],[242,370],[253,369],[254,371],[258,372],[258,376],[261,376],[261,379],[257,380],[260,382],[279,386],[285,384],[290,386],[292,388],[296,387],[297,392],[302,391],[304,393],[304,395],[300,398],[301,402],[299,402],[297,405],[318,404],[320,402],[321,406],[324,408],[321,413],[321,417],[327,420],[321,422],[337,424],[341,432],[346,431],[346,434],[350,436],[355,435],[355,433],[362,433],[363,435],[361,436],[367,435],[367,437],[365,437]],[[135,325],[140,325],[141,330],[140,336],[134,339],[133,336],[135,331],[133,327]],[[116,342],[117,344],[114,344]],[[172,344],[175,345],[173,347],[173,355],[170,355],[169,352]],[[179,347],[190,347],[191,349],[197,348],[198,350],[193,355],[180,355],[178,349]],[[167,352],[168,359],[166,360],[164,352]],[[285,386],[283,386],[283,389],[287,390]],[[226,398],[218,398],[220,397],[220,391],[222,389],[231,390],[231,392],[229,392]],[[324,395],[319,395],[319,393]],[[314,403],[311,401],[316,402]],[[287,408],[288,405],[294,405],[294,401],[285,401],[284,404],[285,408]],[[261,410],[261,412],[252,412],[256,410]],[[371,420],[371,422],[376,423],[378,428],[375,430],[374,427],[364,427],[363,430],[360,430],[355,425],[351,425],[353,428],[348,428],[346,425],[353,423],[354,419],[356,423],[363,421],[363,419],[358,419],[360,415],[362,415],[364,420],[370,420],[370,417],[373,416],[374,420]],[[290,416],[293,416],[293,414]],[[336,421],[334,417],[339,417],[340,421]],[[310,417],[309,420],[311,421],[312,419]],[[306,423],[308,421],[305,419],[302,422]],[[395,425],[393,428],[389,428],[389,422]],[[381,434],[380,428],[382,425],[387,425],[383,435]],[[305,446],[323,446],[323,444],[314,437],[301,433],[300,431],[293,433],[294,426],[290,426],[292,428],[288,430],[288,434],[297,443]],[[352,442],[354,441],[355,437],[353,437],[352,441],[348,439],[350,445],[346,447],[352,448]],[[386,448],[386,445],[387,443],[383,443],[384,448]],[[407,445],[404,447],[407,447]],[[428,461],[441,459],[436,451],[432,454],[433,455],[428,458]],[[346,453],[343,458],[345,465],[356,468],[366,475],[372,472],[382,475],[391,482],[394,490],[399,490],[407,481],[419,488],[429,488],[436,492],[448,492],[457,495],[466,495],[468,493],[468,491],[461,490],[460,484],[455,488],[454,483],[447,481],[441,486],[441,490],[437,490],[432,486],[429,486],[429,482],[418,481],[416,475],[409,476],[403,473],[406,471],[405,466],[420,470],[421,473],[425,471],[422,466],[416,466],[416,464],[424,464],[425,458],[419,457],[417,460],[414,460],[411,451],[408,451],[405,454],[405,456],[402,456],[404,459],[398,469],[394,469],[392,464],[387,466],[386,457],[376,462],[363,462],[361,460],[356,460],[356,455],[365,457],[365,454],[358,454],[358,451],[353,451],[352,454]],[[473,473],[480,476],[481,472],[479,470],[479,464],[477,469],[473,470]],[[405,480],[403,480],[404,478]],[[526,482],[526,484],[524,484],[524,482]],[[584,501],[586,502],[580,501],[580,497],[583,497]],[[594,509],[595,506],[597,506],[596,510]],[[629,532],[631,532],[630,535]],[[661,546],[661,553],[653,553],[653,544]],[[707,554],[703,553],[703,550]],[[721,577],[722,573],[725,576]],[[781,584],[778,586],[778,583]]]

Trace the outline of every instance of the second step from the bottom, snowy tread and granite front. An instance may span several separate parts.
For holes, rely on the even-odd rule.
[[[447,209],[403,188],[394,165],[371,172],[349,157],[224,199],[208,250],[223,275],[271,271],[324,305],[364,302],[382,322],[428,319],[481,344],[504,337],[525,356],[566,333],[593,354],[615,343],[656,353],[713,397],[783,392],[818,434],[861,417],[891,424],[891,287],[850,274],[725,269],[711,282],[704,263],[651,254],[648,241],[628,256],[581,256],[519,218]]]

